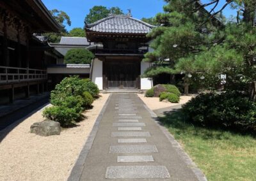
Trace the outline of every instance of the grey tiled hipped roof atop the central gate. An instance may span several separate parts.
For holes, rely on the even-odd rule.
[[[149,33],[154,25],[147,24],[129,15],[111,15],[93,24],[87,24],[87,31],[101,33]]]

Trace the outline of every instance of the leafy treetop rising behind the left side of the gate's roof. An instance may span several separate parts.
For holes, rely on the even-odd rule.
[[[90,9],[90,13],[86,15],[84,24],[97,22],[97,20],[108,17],[109,14],[123,15],[124,13],[118,7],[112,7],[108,9],[105,6],[93,6],[93,8]]]

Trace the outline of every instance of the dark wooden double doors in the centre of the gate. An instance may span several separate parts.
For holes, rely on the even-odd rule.
[[[140,61],[108,61],[105,66],[108,89],[138,89]]]

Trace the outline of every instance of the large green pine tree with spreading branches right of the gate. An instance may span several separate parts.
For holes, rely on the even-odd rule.
[[[184,82],[199,82],[207,89],[224,83],[227,90],[248,91],[246,83],[256,78],[256,3],[231,0],[216,9],[219,0],[166,2],[165,12],[156,16],[161,26],[148,34],[154,39],[150,45],[154,52],[148,52],[144,61],[154,66],[144,76],[184,73]],[[237,22],[225,22],[221,16],[228,4],[237,8]],[[206,6],[212,9],[206,11]],[[220,75],[226,75],[225,82]],[[255,93],[251,98],[255,99]]]

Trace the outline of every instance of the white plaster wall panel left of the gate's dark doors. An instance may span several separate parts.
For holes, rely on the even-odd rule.
[[[92,82],[96,83],[100,90],[103,89],[102,61],[99,59],[93,60]]]

